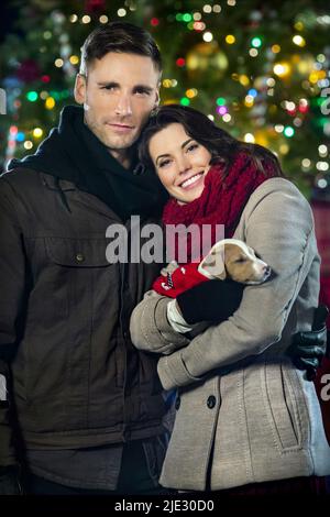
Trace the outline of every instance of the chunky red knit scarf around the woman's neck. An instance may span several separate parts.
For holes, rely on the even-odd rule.
[[[242,211],[251,194],[266,179],[276,176],[271,162],[264,163],[266,175],[253,163],[251,156],[240,153],[230,166],[223,180],[223,165],[215,165],[205,178],[205,188],[199,198],[186,205],[178,205],[172,198],[167,201],[163,212],[163,223],[168,224],[198,224],[201,231],[202,224],[210,224],[211,245],[216,243],[216,224],[224,224],[224,237],[231,238],[240,221]],[[182,235],[186,239],[186,235]],[[178,245],[176,242],[175,260],[178,260]],[[191,258],[191,242],[187,243],[187,262]]]

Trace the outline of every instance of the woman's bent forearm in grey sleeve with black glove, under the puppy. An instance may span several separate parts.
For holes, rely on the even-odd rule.
[[[212,288],[213,287],[213,288]],[[146,352],[170,354],[186,346],[210,324],[227,320],[240,306],[244,286],[234,282],[204,282],[176,300],[150,290],[131,316],[130,331],[134,345]],[[180,315],[195,317],[194,321]],[[188,333],[189,332],[189,333]]]

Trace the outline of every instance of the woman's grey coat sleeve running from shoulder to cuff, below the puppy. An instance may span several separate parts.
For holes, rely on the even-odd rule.
[[[216,367],[260,354],[277,342],[310,265],[317,260],[310,207],[289,182],[265,182],[252,195],[244,218],[246,243],[277,276],[245,287],[239,309],[228,321],[207,329],[183,350],[160,360],[158,374],[166,389],[190,384]]]

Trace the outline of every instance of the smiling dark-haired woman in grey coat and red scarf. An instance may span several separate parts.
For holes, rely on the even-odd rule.
[[[238,142],[189,108],[160,109],[144,132],[141,158],[173,197],[165,224],[224,223],[226,237],[246,242],[276,273],[245,287],[233,316],[195,338],[174,331],[170,298],[150,292],[133,311],[133,342],[164,354],[161,382],[178,389],[161,484],[268,493],[276,481],[277,492],[312,491],[312,476],[330,473],[330,451],[314,384],[286,354],[293,334],[311,328],[318,304],[319,255],[308,202],[280,177],[272,153]],[[178,297],[179,324],[211,319],[209,294],[198,304],[191,293],[217,284]],[[242,485],[249,485],[245,492]]]

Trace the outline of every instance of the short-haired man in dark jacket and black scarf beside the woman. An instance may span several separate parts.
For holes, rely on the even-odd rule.
[[[0,493],[153,494],[167,446],[156,359],[129,320],[157,264],[111,263],[107,228],[157,220],[136,141],[160,102],[160,52],[114,22],[81,52],[75,99],[0,179]]]

